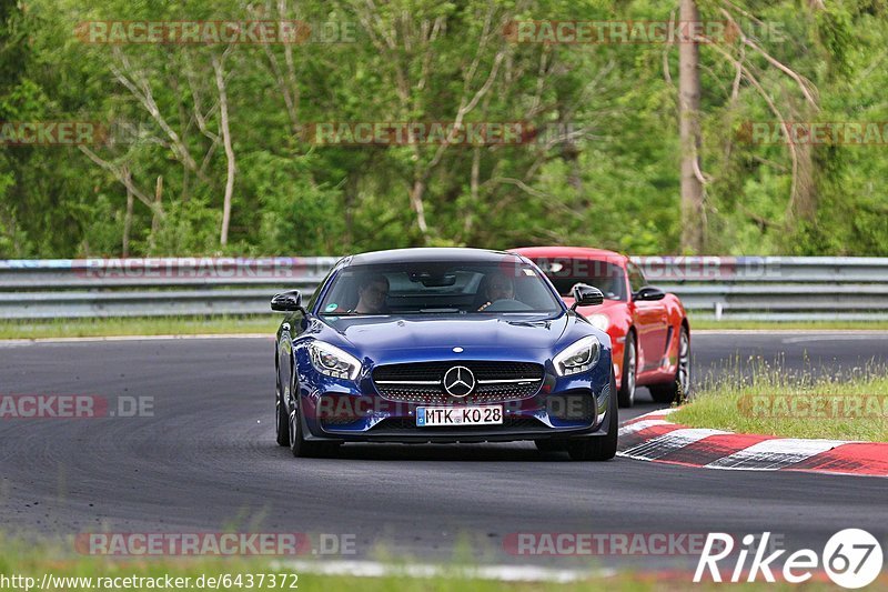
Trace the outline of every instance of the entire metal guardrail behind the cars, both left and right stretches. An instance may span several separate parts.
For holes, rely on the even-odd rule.
[[[888,319],[888,258],[633,259],[697,318]],[[273,293],[312,292],[336,260],[0,260],[0,319],[269,313]]]

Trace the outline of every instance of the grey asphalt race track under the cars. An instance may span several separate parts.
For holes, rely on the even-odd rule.
[[[693,347],[698,380],[737,360],[749,371],[750,355],[799,371],[888,362],[885,333],[700,333]],[[0,342],[2,394],[153,398],[153,417],[0,419],[3,528],[354,534],[360,556],[382,546],[446,561],[467,545],[478,561],[541,565],[555,560],[509,555],[503,541],[769,530],[811,546],[852,526],[888,539],[882,479],[577,463],[523,443],[352,444],[294,459],[274,443],[272,352],[271,339]],[[655,409],[638,398],[622,419]]]

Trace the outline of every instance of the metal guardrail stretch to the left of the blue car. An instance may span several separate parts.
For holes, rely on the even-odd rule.
[[[0,319],[271,313],[336,257],[0,260]]]

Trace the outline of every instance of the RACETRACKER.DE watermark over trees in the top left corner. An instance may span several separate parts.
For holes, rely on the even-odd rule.
[[[354,43],[357,23],[301,20],[84,21],[74,36],[83,43],[127,44],[280,44]]]

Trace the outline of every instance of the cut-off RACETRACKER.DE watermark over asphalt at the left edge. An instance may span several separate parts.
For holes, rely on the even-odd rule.
[[[153,417],[153,397],[0,394],[0,420]]]

